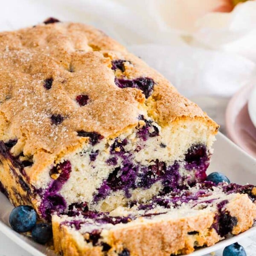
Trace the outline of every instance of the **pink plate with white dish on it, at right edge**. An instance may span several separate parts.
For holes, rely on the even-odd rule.
[[[230,100],[226,110],[229,137],[256,157],[256,87],[247,85]]]

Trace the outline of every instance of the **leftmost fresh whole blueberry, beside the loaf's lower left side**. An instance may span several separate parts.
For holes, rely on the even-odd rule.
[[[11,227],[20,233],[32,230],[37,220],[35,210],[29,205],[15,207],[9,217]]]

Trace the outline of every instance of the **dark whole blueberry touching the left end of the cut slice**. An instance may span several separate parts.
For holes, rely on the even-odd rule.
[[[52,239],[52,226],[47,223],[36,224],[32,229],[32,239],[39,244],[46,244]]]

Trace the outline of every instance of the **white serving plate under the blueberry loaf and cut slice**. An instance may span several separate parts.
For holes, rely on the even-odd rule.
[[[239,184],[246,184],[247,182],[255,183],[256,160],[254,160],[253,157],[250,157],[250,155],[242,151],[238,146],[228,140],[227,137],[221,133],[217,135],[217,141],[214,144],[214,149],[215,152],[212,156],[212,162],[209,166],[208,172],[223,172],[230,178],[231,182],[236,182]],[[8,223],[9,213],[13,207],[2,193],[0,193],[0,202],[0,230],[6,234],[6,236],[34,256],[55,256],[55,253],[53,253],[52,250],[49,250],[46,246],[37,244],[28,237],[14,232],[9,227]],[[256,226],[237,236],[220,241],[211,247],[197,249],[195,252],[189,255],[203,256],[207,253],[224,248],[229,244],[233,244],[234,242],[239,241],[252,233],[256,233]]]

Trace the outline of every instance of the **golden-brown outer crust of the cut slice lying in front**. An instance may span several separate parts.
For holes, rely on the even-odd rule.
[[[237,195],[236,199],[227,204],[230,215],[236,217],[237,225],[232,233],[238,234],[249,229],[256,219],[256,205],[247,195]],[[108,244],[111,245],[109,256],[116,256],[124,248],[128,248],[131,256],[169,256],[170,254],[187,254],[195,247],[211,246],[220,241],[215,229],[211,228],[215,212],[202,212],[188,218],[178,220],[158,221],[151,224],[111,230]],[[198,234],[189,235],[189,232],[198,231]],[[100,247],[91,247],[85,242],[77,244],[65,225],[59,225],[53,218],[53,234],[55,250],[63,252],[64,256],[103,256]]]

